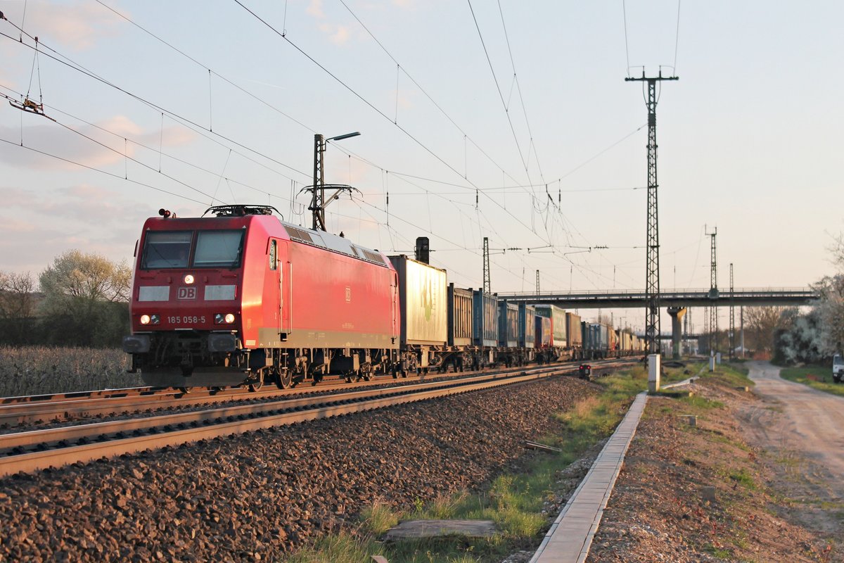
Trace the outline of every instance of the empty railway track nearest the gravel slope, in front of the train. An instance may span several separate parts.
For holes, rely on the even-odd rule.
[[[529,374],[527,371],[522,371],[519,375],[487,375],[452,382],[419,383],[411,386],[344,393],[330,398],[304,398],[294,402],[239,405],[225,409],[8,434],[0,436],[0,448],[8,453],[7,457],[0,458],[0,477],[49,467],[61,467],[71,463],[88,463],[103,457],[116,457],[161,447],[179,446],[219,436],[231,436],[274,426],[381,409],[457,393],[537,381],[561,372],[558,367],[547,366],[533,371]],[[291,403],[299,404],[295,406]],[[305,403],[311,404],[306,406]],[[182,426],[180,430],[174,429],[175,426],[180,425]],[[184,428],[185,425],[192,425],[192,427]],[[148,434],[123,437],[127,432],[136,431],[146,431]],[[109,439],[108,436],[116,437]],[[69,444],[69,441],[74,440],[92,442]],[[36,444],[45,448],[56,445],[57,449],[16,452],[16,450],[33,447]]]

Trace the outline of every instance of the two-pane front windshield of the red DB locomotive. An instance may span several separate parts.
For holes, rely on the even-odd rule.
[[[243,230],[149,232],[141,268],[236,268],[242,246]]]

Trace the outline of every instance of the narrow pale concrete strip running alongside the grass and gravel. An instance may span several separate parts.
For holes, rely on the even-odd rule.
[[[609,436],[592,468],[551,524],[530,563],[583,563],[586,560],[646,403],[647,392],[636,395],[624,420]]]

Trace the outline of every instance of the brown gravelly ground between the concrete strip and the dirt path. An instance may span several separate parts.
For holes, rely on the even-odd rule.
[[[777,395],[772,369],[750,367],[753,392],[705,376],[694,398],[648,401],[588,563],[841,560],[841,484],[822,460],[844,426],[808,438],[796,413],[818,398]]]

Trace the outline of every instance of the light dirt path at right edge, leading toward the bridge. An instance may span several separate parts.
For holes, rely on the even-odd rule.
[[[771,454],[778,479],[774,489],[799,505],[790,516],[809,529],[841,537],[844,398],[787,382],[767,362],[748,366],[762,401],[738,413],[745,436]]]

